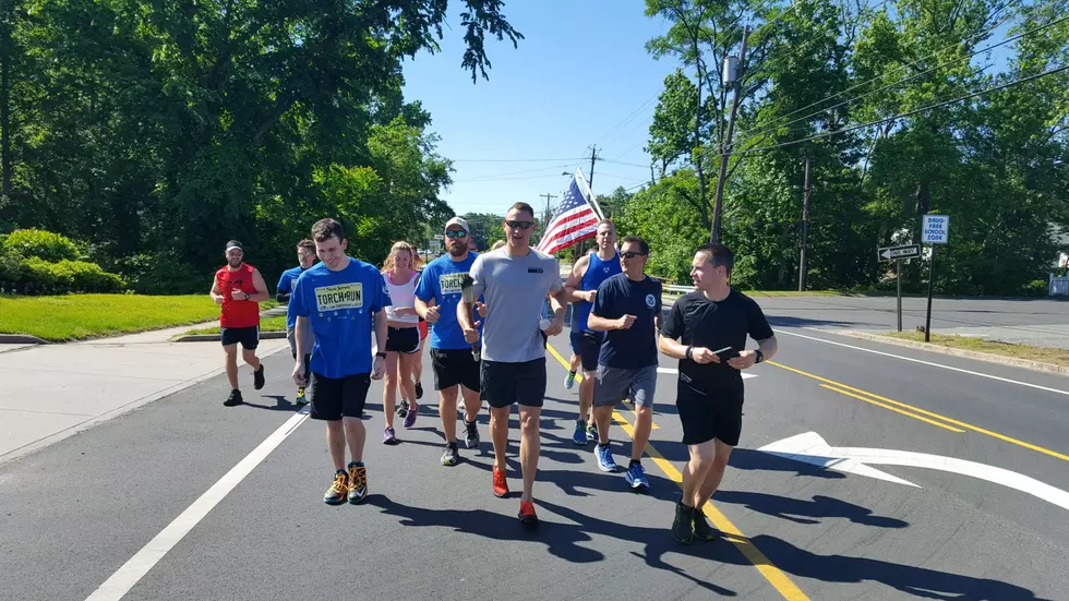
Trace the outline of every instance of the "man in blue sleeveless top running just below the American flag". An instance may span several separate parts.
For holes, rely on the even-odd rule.
[[[598,287],[602,281],[621,272],[620,256],[616,254],[616,226],[610,220],[598,225],[598,250],[579,257],[572,267],[572,274],[564,284],[575,302],[572,313],[572,351],[579,357],[582,366],[582,381],[579,382],[579,417],[575,421],[572,442],[585,445],[598,440],[598,424],[590,406],[593,402],[594,372],[598,371],[598,353],[604,334],[593,332],[587,325],[587,316],[593,306]],[[567,383],[565,383],[567,384]],[[618,400],[618,399],[617,399]]]

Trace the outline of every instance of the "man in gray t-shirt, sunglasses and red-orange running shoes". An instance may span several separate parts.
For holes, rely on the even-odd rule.
[[[561,285],[556,259],[530,247],[534,233],[534,209],[516,203],[505,215],[507,247],[480,255],[471,266],[473,281],[470,298],[485,296],[487,316],[482,344],[482,398],[490,404],[490,430],[494,443],[493,493],[508,494],[505,478],[505,450],[508,446],[508,413],[519,404],[520,465],[524,494],[519,501],[519,519],[537,524],[534,514],[534,474],[538,471],[539,419],[545,395],[545,347],[542,338],[542,304],[552,295],[553,320],[544,334],[555,336],[564,328],[564,303],[567,292]],[[469,344],[479,341],[472,323],[472,303],[461,299],[457,320]]]

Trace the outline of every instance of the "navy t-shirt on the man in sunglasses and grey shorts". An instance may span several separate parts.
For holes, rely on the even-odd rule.
[[[632,281],[617,274],[601,283],[591,313],[606,320],[635,315],[627,329],[610,329],[598,363],[637,370],[657,364],[657,315],[661,313],[661,283],[647,276]]]

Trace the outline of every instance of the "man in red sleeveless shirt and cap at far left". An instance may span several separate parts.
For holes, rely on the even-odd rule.
[[[244,402],[238,389],[239,342],[241,358],[253,370],[253,387],[257,390],[264,387],[264,365],[256,358],[256,347],[260,346],[260,303],[271,295],[260,271],[242,262],[244,250],[241,242],[227,242],[226,257],[227,265],[215,273],[209,296],[215,304],[223,306],[219,338],[226,353],[227,380],[230,381],[230,396],[223,405],[233,407]]]

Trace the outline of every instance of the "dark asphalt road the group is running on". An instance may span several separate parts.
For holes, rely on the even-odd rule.
[[[634,494],[570,442],[578,387],[549,356],[531,531],[515,497],[490,494],[485,414],[480,450],[445,468],[430,406],[403,444],[379,444],[379,384],[371,497],[323,504],[323,428],[295,412],[279,353],[245,406],[221,406],[219,376],[0,465],[0,599],[1069,598],[1067,509],[1030,483],[1069,490],[1069,380],[802,328],[808,317],[774,300],[761,303],[781,351],[746,380],[743,440],[707,512],[730,534],[714,542],[681,546],[668,530],[686,460],[673,361],[658,380],[652,486]],[[551,341],[566,359],[566,336]],[[617,460],[625,430],[612,429]],[[952,459],[870,464],[880,479],[758,450],[808,433]],[[953,459],[986,468],[945,471]]]

